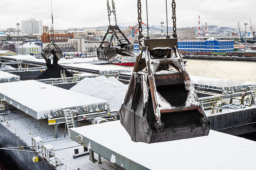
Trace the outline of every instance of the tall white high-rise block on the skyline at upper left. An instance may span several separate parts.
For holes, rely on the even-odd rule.
[[[35,19],[22,20],[21,31],[26,34],[42,34],[43,21]]]

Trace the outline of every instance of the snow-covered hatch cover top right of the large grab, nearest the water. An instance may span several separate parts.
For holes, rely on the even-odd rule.
[[[200,76],[193,76],[193,75],[190,75],[189,77],[193,82],[193,84],[215,86],[215,87],[235,87],[235,86],[248,86],[248,85],[256,84],[253,82],[226,80],[226,79],[210,78],[210,77],[200,77]]]

